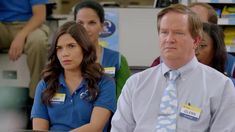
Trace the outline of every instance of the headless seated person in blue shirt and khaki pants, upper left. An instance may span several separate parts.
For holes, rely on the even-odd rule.
[[[44,25],[48,0],[0,1],[0,49],[9,49],[9,59],[27,55],[30,72],[29,95],[35,88],[47,61],[49,28]]]

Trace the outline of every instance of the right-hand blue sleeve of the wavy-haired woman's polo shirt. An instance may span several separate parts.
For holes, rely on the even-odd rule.
[[[105,76],[99,82],[99,95],[94,106],[106,108],[113,113],[116,111],[116,85],[113,78]]]

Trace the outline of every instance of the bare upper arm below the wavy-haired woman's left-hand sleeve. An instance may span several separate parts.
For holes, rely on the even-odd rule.
[[[49,130],[49,121],[42,118],[33,118],[33,130]]]

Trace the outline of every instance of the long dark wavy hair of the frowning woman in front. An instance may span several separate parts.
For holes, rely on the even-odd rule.
[[[59,75],[64,72],[64,69],[58,60],[56,46],[58,39],[63,34],[70,34],[77,41],[77,44],[81,46],[83,52],[83,60],[81,62],[82,77],[88,83],[88,91],[91,99],[95,100],[99,92],[97,82],[104,74],[103,68],[95,62],[96,50],[90,42],[84,27],[75,21],[70,21],[63,24],[54,35],[48,56],[49,61],[42,72],[43,79],[47,84],[46,89],[42,93],[42,102],[50,105],[50,100],[60,87]]]

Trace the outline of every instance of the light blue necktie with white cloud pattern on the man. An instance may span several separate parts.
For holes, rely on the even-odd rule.
[[[176,80],[180,73],[170,70],[165,74],[167,87],[164,90],[160,103],[160,112],[157,118],[157,132],[175,132],[178,108]]]

